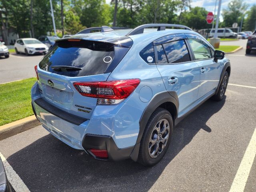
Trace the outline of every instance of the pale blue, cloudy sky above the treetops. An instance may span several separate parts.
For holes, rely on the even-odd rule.
[[[106,3],[110,4],[111,0],[106,0]],[[213,12],[214,14],[214,7],[215,7],[215,1],[216,0],[191,0],[191,7],[204,7],[207,11]],[[222,13],[223,9],[226,9],[228,7],[228,3],[231,0],[222,0],[221,3],[221,10],[220,14]],[[218,12],[218,0],[217,0],[217,6],[216,6],[216,15]],[[256,0],[244,0],[245,3],[249,5],[248,9],[253,5],[256,4]],[[220,15],[220,21],[223,21],[222,15]]]

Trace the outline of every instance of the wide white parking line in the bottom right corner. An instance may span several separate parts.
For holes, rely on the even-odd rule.
[[[256,128],[244,153],[229,192],[243,192],[256,154]]]

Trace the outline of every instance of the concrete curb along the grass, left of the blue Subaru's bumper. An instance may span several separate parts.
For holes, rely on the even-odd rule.
[[[0,126],[0,140],[34,128],[40,124],[41,123],[36,119],[35,116],[29,116],[12,123],[2,125]]]

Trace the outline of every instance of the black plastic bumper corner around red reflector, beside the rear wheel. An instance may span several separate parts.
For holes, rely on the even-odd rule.
[[[118,161],[130,158],[134,146],[120,149],[116,146],[113,138],[107,135],[95,135],[95,134],[86,134],[84,137],[82,146],[90,155],[96,159],[96,156],[90,152],[90,149],[101,149],[108,151],[108,160]],[[102,159],[100,159],[102,160]]]

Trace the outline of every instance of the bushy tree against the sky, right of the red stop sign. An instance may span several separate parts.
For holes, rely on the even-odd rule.
[[[228,8],[223,10],[223,24],[225,27],[231,27],[233,23],[240,23],[243,13],[248,8],[243,0],[232,0],[228,3]]]

